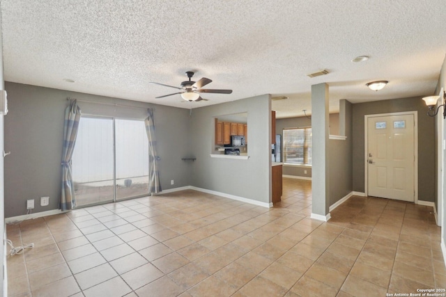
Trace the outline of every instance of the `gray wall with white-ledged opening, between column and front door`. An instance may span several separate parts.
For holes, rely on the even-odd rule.
[[[345,104],[345,135],[346,140],[328,141],[329,147],[329,178],[330,178],[330,206],[344,198],[353,191],[353,139],[352,139],[352,105],[346,100],[341,100],[340,104]],[[339,123],[339,113],[337,113]],[[344,117],[343,117],[344,118]],[[330,122],[331,117],[330,117]],[[339,127],[339,126],[338,126]],[[331,129],[330,129],[331,131]],[[339,131],[339,130],[338,130]]]

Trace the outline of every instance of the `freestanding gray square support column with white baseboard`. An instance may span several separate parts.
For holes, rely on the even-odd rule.
[[[312,86],[312,218],[330,220],[328,84]]]

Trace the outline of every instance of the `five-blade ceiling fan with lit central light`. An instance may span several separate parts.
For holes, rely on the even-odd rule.
[[[191,80],[191,78],[194,76],[194,72],[187,71],[186,75],[189,80],[183,81],[182,83],[180,83],[180,88],[175,87],[175,86],[164,85],[164,83],[155,83],[153,81],[149,81],[149,83],[155,83],[160,86],[176,88],[178,90],[181,90],[178,93],[173,93],[173,94],[164,95],[164,96],[158,96],[155,98],[162,98],[162,97],[167,97],[167,96],[171,96],[171,95],[181,94],[181,97],[183,99],[185,99],[186,101],[192,102],[192,101],[206,100],[206,99],[201,98],[200,93],[215,93],[215,94],[231,94],[232,93],[232,90],[202,89],[203,86],[206,86],[208,83],[211,83],[212,80],[206,79],[206,77],[203,77],[199,81],[195,82],[195,81]]]

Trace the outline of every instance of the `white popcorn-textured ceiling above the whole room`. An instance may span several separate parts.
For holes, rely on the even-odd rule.
[[[277,118],[311,113],[323,82],[331,112],[432,95],[446,54],[444,0],[1,0],[1,13],[6,81],[185,109],[286,95]],[[233,93],[155,99],[176,91],[149,81],[179,86],[187,70]],[[374,80],[389,83],[374,92]]]

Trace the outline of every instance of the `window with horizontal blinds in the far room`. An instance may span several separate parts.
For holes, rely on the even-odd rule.
[[[284,163],[312,165],[312,128],[284,129]]]

